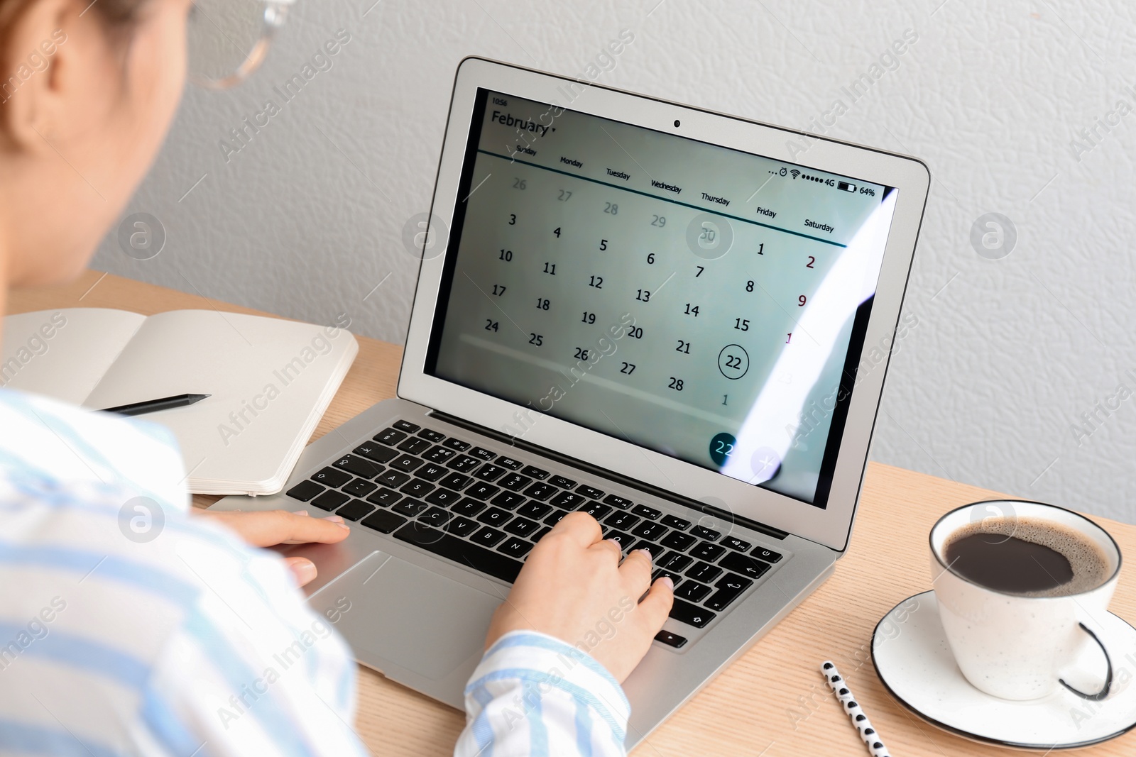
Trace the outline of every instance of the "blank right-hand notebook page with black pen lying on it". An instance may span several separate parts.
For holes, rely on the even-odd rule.
[[[158,313],[87,404],[209,394],[142,418],[177,436],[192,490],[267,494],[283,485],[326,406],[325,389],[339,386],[357,352],[354,337],[334,327],[214,310]]]

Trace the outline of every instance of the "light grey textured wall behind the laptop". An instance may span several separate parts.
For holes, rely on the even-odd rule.
[[[346,311],[402,342],[402,227],[428,208],[458,61],[578,76],[629,28],[599,82],[794,127],[843,99],[830,135],[930,166],[905,305],[918,326],[892,361],[877,460],[1136,522],[1136,397],[1071,430],[1118,385],[1136,390],[1136,115],[1095,146],[1077,136],[1136,107],[1128,3],[382,0],[364,15],[371,2],[299,0],[252,81],[189,90],[127,211],[162,221],[165,250],[136,261],[111,234],[95,267],[311,321]],[[219,141],[340,28],[334,68],[226,162]],[[918,42],[851,102],[841,87],[907,28]],[[970,242],[987,212],[1017,229],[1000,260]]]

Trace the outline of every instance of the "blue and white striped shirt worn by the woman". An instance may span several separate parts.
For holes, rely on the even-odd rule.
[[[160,426],[0,390],[0,755],[366,755],[356,665],[281,557],[189,515]],[[592,657],[500,639],[454,754],[623,755]]]

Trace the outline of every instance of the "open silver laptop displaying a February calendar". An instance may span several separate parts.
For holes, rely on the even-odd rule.
[[[533,545],[591,513],[675,606],[624,689],[630,749],[847,548],[927,199],[909,157],[467,58],[398,397],[284,493],[334,512],[310,603],[454,707]],[[575,644],[576,640],[567,640]]]

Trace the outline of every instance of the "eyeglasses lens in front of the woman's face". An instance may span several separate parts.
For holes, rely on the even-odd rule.
[[[187,25],[190,81],[209,90],[240,84],[260,67],[295,0],[194,0]]]

